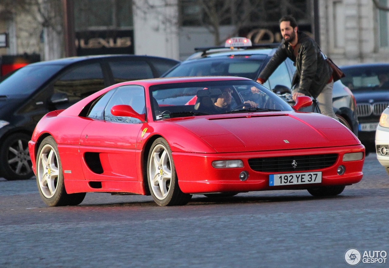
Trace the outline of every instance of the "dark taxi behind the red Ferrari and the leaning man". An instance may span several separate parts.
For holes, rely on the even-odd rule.
[[[199,48],[198,52],[165,73],[163,77],[224,75],[256,80],[277,47],[277,44],[270,44],[243,49]],[[293,66],[293,62],[287,58],[263,85],[284,97],[289,104],[294,105],[290,93],[295,71],[296,67]],[[357,136],[358,120],[355,99],[352,92],[341,81],[334,83],[333,107],[340,122]],[[303,108],[300,111],[312,111],[312,107]]]

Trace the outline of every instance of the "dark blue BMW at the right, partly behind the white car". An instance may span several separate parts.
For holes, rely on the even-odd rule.
[[[380,116],[389,105],[389,63],[357,64],[341,67],[342,78],[357,102],[358,137],[366,152],[375,152],[375,131]]]

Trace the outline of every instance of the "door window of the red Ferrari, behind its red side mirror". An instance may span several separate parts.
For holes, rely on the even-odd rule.
[[[137,113],[145,113],[145,90],[140,85],[124,85],[118,87],[116,92],[109,100],[104,110],[104,119],[113,122],[122,123],[140,123],[137,118],[132,117],[117,117],[112,115],[111,108],[115,105],[130,105]]]

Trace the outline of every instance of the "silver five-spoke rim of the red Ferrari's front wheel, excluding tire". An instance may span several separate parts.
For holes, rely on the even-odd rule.
[[[172,181],[171,159],[167,149],[158,144],[151,152],[149,162],[149,180],[155,197],[163,200],[168,195]]]

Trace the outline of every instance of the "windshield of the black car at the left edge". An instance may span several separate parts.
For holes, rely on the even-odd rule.
[[[27,65],[15,71],[0,83],[0,95],[31,94],[50,77],[61,70],[62,65]]]

